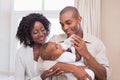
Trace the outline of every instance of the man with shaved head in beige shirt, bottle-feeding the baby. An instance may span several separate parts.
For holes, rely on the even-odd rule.
[[[60,43],[72,34],[75,34],[75,36],[72,37],[72,45],[75,47],[77,53],[84,58],[86,66],[95,73],[95,79],[108,80],[111,74],[111,68],[109,67],[106,57],[105,46],[98,38],[83,32],[81,28],[82,18],[78,10],[72,6],[65,7],[60,12],[59,18],[62,30],[65,34],[55,35],[50,41]],[[84,71],[84,67],[57,63],[52,69],[55,70],[56,67],[60,67],[61,71],[73,73],[79,80],[86,80],[89,77]]]

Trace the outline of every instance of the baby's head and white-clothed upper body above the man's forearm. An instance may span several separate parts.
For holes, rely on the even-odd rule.
[[[73,47],[71,47],[71,52],[69,52],[65,51],[62,45],[48,42],[41,47],[40,51],[40,56],[43,60],[56,60],[65,63],[74,63],[76,61],[75,50]]]

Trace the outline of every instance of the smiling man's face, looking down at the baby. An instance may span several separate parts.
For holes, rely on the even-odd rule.
[[[78,24],[80,19],[75,16],[73,11],[66,11],[60,15],[60,24],[62,30],[68,35],[71,36],[78,31]]]

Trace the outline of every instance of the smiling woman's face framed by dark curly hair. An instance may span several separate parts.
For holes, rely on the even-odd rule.
[[[39,21],[36,21],[33,29],[31,30],[31,37],[35,44],[43,44],[46,40],[46,30],[43,24]]]

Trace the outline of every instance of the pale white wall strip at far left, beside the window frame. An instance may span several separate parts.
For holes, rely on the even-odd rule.
[[[0,0],[0,71],[9,69],[10,0]]]

